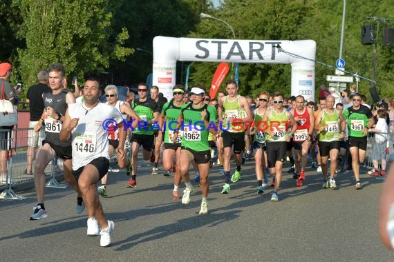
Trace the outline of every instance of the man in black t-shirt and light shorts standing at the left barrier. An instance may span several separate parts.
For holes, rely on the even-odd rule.
[[[37,125],[41,114],[44,111],[44,99],[42,98],[42,94],[44,94],[44,92],[51,91],[48,87],[48,71],[39,71],[37,78],[39,83],[30,86],[26,94],[26,103],[29,103],[30,105],[30,129],[28,132],[28,165],[24,171],[25,174],[32,174],[32,161],[35,157],[37,148],[42,146],[42,141],[45,138],[44,128],[39,132],[34,132],[33,128]]]

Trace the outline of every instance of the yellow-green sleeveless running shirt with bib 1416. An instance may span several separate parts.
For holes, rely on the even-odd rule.
[[[331,114],[323,110],[320,125],[324,127],[324,130],[320,132],[319,141],[339,141],[339,114],[336,109]]]

